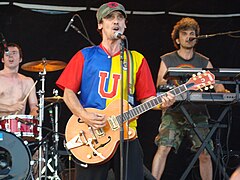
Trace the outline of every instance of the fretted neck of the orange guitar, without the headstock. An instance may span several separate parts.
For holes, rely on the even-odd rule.
[[[174,96],[178,96],[184,92],[186,92],[188,90],[186,84],[182,84],[174,89],[171,89],[170,91],[161,94],[160,96],[157,96],[156,98],[153,98],[149,101],[146,101],[132,109],[130,109],[127,112],[123,113],[123,121],[128,121],[128,120],[132,120],[135,117],[143,114],[144,112],[147,112],[148,110],[154,108],[155,106],[157,106],[158,104],[162,103],[162,97],[166,96],[167,93],[171,93]],[[121,122],[121,115],[118,115],[117,117],[118,122]]]

